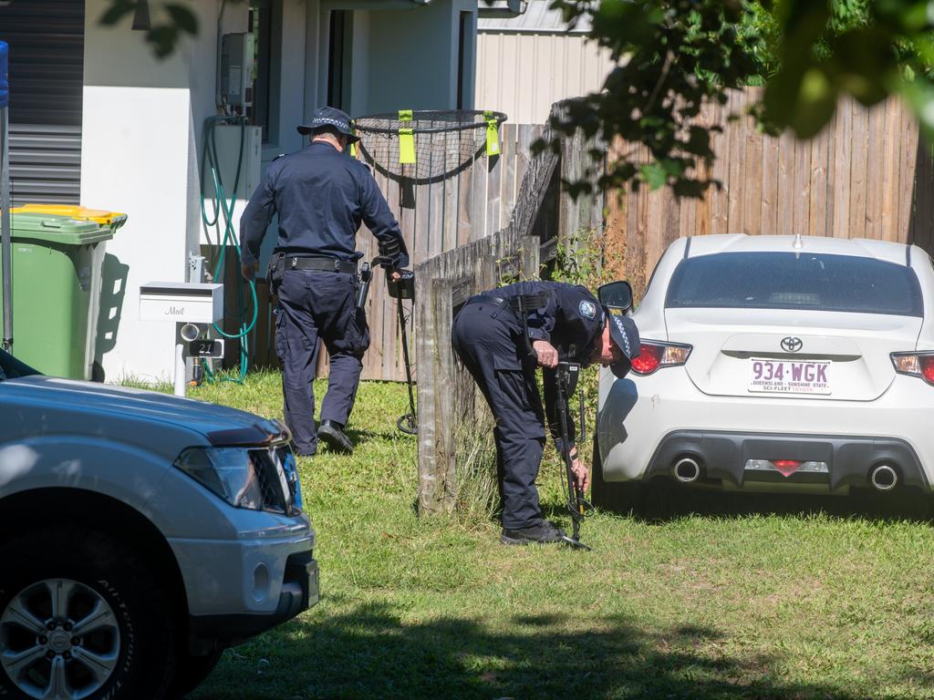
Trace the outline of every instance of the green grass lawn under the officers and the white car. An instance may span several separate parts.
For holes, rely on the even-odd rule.
[[[279,387],[192,394],[281,416]],[[364,383],[354,455],[300,459],[321,601],[227,651],[192,697],[934,697],[926,522],[720,498],[658,522],[600,513],[591,553],[504,547],[492,522],[417,518],[405,403]],[[540,480],[556,512],[558,479]]]

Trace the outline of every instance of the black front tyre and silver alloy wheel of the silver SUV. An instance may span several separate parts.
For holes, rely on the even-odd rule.
[[[100,532],[0,545],[0,698],[163,700],[173,609],[146,562]]]

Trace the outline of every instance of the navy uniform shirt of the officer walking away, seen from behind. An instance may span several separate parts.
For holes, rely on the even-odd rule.
[[[318,142],[270,163],[240,218],[241,259],[260,257],[262,237],[278,213],[276,252],[356,260],[361,222],[383,243],[398,242],[397,267],[409,263],[399,223],[369,169]]]

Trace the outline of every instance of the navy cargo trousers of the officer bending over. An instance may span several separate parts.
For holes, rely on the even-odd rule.
[[[502,526],[542,519],[535,479],[545,447],[545,411],[522,329],[508,305],[468,302],[454,319],[451,343],[496,419]]]

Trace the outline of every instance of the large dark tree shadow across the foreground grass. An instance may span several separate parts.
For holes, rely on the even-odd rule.
[[[828,685],[785,682],[775,659],[711,651],[720,638],[715,629],[646,633],[620,617],[585,627],[563,616],[522,616],[490,629],[461,619],[405,623],[388,606],[371,605],[319,622],[291,623],[275,634],[275,643],[257,641],[235,655],[228,651],[197,697],[857,697]]]

